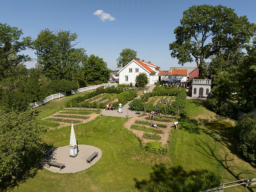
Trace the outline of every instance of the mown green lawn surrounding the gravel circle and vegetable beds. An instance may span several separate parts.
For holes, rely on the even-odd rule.
[[[68,98],[68,97],[67,97]],[[69,99],[69,98],[68,98]],[[55,101],[55,100],[54,100]],[[51,115],[58,101],[38,107],[39,116]],[[188,117],[181,118],[170,143],[170,155],[162,156],[140,149],[137,137],[124,128],[127,118],[102,116],[75,125],[78,144],[93,145],[102,157],[89,169],[77,173],[53,173],[38,168],[34,175],[7,191],[121,191],[133,190],[171,179],[214,171],[222,183],[256,177],[255,164],[247,163],[236,150],[229,130],[216,131],[200,126],[203,119],[234,124],[204,107],[204,102],[187,100]],[[48,105],[48,106],[47,106]],[[47,107],[46,107],[47,106]],[[69,144],[70,126],[42,133],[54,147]],[[225,192],[255,191],[255,187],[227,188]]]

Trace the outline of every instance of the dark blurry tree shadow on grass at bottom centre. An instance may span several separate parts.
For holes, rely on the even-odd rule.
[[[176,180],[184,177],[186,178],[189,176],[198,176],[207,172],[207,170],[186,172],[182,166],[166,167],[164,164],[156,164],[152,169],[153,172],[150,173],[149,180],[139,181],[136,178],[133,179],[135,181],[136,188],[145,188],[159,182],[166,183],[170,180]]]

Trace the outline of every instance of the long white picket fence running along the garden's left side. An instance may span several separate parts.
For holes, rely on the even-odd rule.
[[[110,87],[110,86],[113,86],[113,85],[117,86],[118,83],[104,83],[104,84],[100,84],[100,85],[92,85],[92,86],[89,86],[89,87],[83,87],[83,88],[71,91],[71,94],[74,95],[76,93],[89,91],[89,90],[96,89],[96,88],[101,87],[101,86]],[[65,96],[67,96],[66,92],[56,93],[56,94],[53,94],[53,95],[50,95],[50,96],[46,97],[44,100],[31,103],[30,105],[32,106],[32,108],[36,108],[40,105],[44,105],[45,103],[47,103],[49,101],[59,99],[61,97],[65,97]]]

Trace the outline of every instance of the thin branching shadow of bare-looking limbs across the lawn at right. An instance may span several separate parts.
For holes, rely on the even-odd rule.
[[[246,167],[241,168],[241,166],[238,166],[238,163],[236,165],[236,162],[234,158],[229,157],[228,152],[225,150],[225,147],[227,145],[224,145],[222,142],[219,141],[220,147],[222,150],[218,153],[219,148],[217,148],[217,145],[210,146],[209,143],[205,141],[195,141],[195,145],[191,146],[196,149],[198,153],[200,153],[202,156],[206,158],[200,158],[198,157],[201,161],[204,161],[206,163],[212,164],[212,165],[220,165],[223,167],[229,174],[231,174],[236,180],[241,180],[244,179],[244,176],[248,177],[249,175],[254,175],[255,173],[253,171],[249,171],[246,169]],[[206,159],[212,159],[212,163],[210,161],[207,162]],[[229,181],[233,181],[232,179],[230,180],[229,178],[224,178]],[[248,188],[249,191],[253,192],[252,188]]]

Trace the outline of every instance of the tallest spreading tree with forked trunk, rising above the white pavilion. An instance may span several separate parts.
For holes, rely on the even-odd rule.
[[[174,30],[176,41],[170,44],[171,56],[181,65],[195,60],[200,75],[205,59],[222,54],[228,62],[250,41],[254,29],[246,16],[238,17],[234,9],[222,5],[189,7],[180,24]]]

